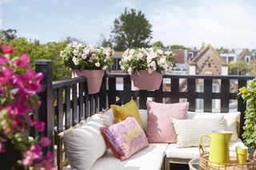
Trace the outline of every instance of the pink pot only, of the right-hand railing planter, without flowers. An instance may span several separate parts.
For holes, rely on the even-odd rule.
[[[130,79],[134,82],[135,89],[156,90],[162,83],[162,74],[156,71],[149,73],[149,71],[140,70],[134,72]]]

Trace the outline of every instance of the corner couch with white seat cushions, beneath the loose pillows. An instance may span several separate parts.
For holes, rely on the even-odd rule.
[[[194,114],[195,113],[189,112],[188,119],[193,119]],[[111,109],[96,115],[100,117],[102,125],[114,124],[114,115]],[[142,120],[143,130],[146,132],[146,110],[140,109],[139,115]],[[58,136],[58,145],[60,145],[58,148],[62,148],[63,134],[65,136],[65,132],[62,132]],[[234,149],[235,146],[238,145],[243,145],[242,140],[238,139],[237,141],[230,142],[230,149]],[[70,170],[72,168],[70,168],[70,165],[67,165],[69,164],[69,160],[62,159],[63,152],[65,152],[64,148],[58,149],[58,155],[60,157],[58,160],[58,169]],[[106,152],[94,162],[90,170],[169,170],[172,169],[170,168],[170,164],[172,163],[188,164],[189,160],[198,156],[198,147],[179,148],[178,144],[150,143],[149,147],[143,148],[139,152],[136,152],[133,156],[130,156],[129,159],[121,161],[114,157],[114,154],[110,151],[110,148],[106,148]]]

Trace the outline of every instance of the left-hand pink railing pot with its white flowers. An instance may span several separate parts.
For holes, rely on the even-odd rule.
[[[86,77],[90,94],[98,93],[104,70],[111,69],[114,50],[110,47],[94,48],[92,45],[72,42],[61,52],[64,64],[72,69],[72,77]]]

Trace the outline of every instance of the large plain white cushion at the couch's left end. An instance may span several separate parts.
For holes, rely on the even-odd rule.
[[[106,152],[106,143],[99,128],[100,117],[94,115],[78,128],[64,132],[64,146],[72,169],[89,170],[95,161]]]

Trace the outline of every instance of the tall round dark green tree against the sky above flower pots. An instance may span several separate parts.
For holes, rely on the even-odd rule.
[[[141,10],[137,13],[134,9],[125,9],[124,13],[114,20],[111,38],[115,50],[146,47],[152,38],[150,22]]]

